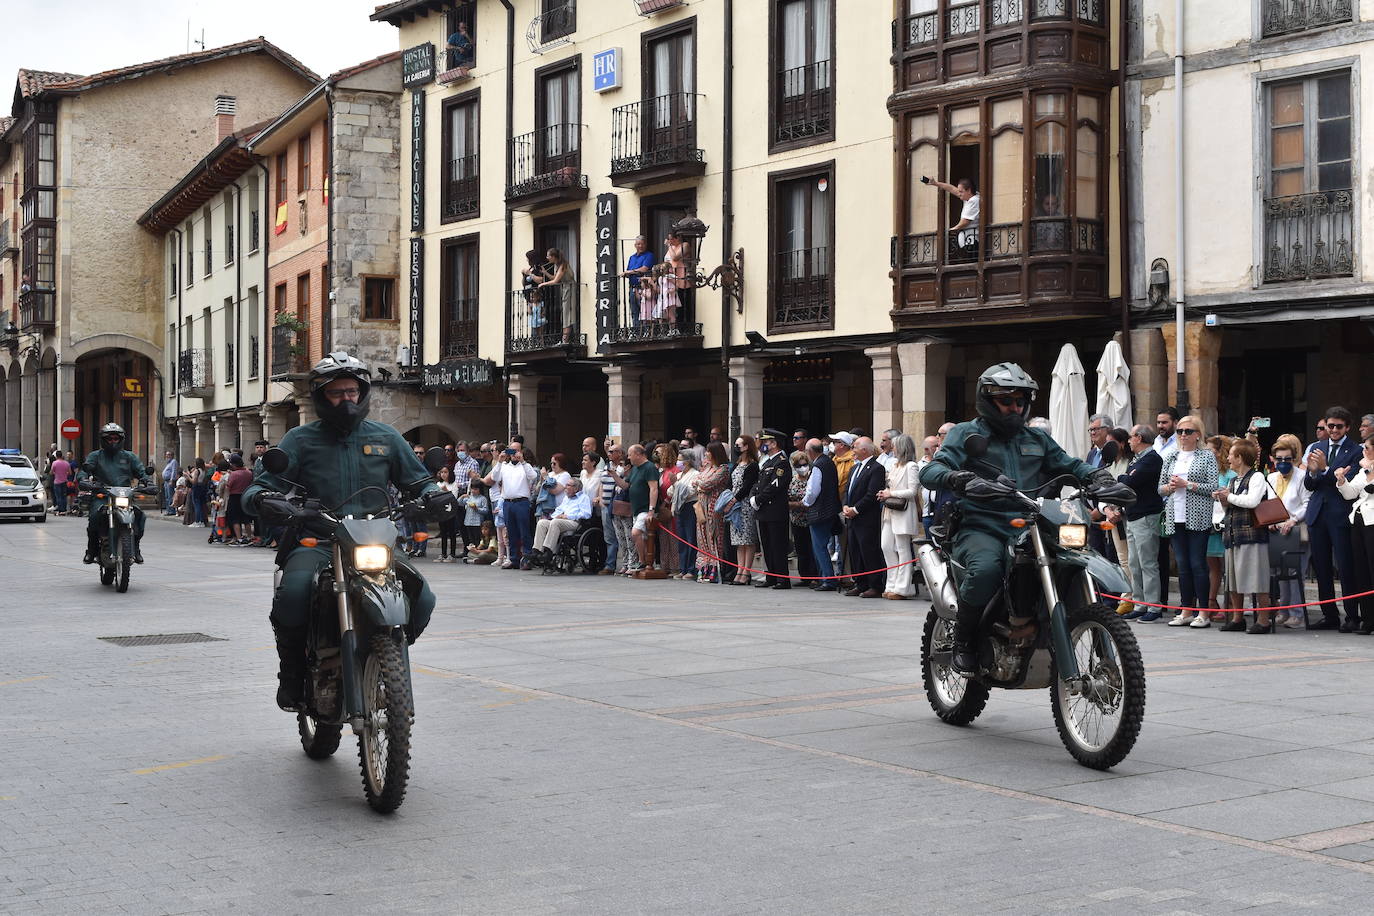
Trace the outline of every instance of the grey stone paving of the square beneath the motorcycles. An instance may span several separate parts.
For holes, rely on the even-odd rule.
[[[923,602],[425,564],[411,790],[272,705],[271,555],[0,525],[3,913],[1363,912],[1374,639],[1139,626],[1145,729],[1077,766],[1048,695],[971,728]],[[422,562],[423,563],[423,562]],[[99,637],[201,632],[124,648]]]

